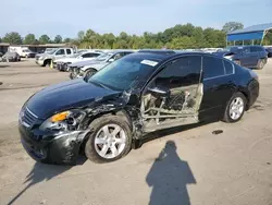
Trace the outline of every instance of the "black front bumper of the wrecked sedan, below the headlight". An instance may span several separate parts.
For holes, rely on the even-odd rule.
[[[79,147],[88,131],[71,131],[52,135],[39,129],[18,124],[21,142],[27,154],[37,161],[57,165],[76,165]]]

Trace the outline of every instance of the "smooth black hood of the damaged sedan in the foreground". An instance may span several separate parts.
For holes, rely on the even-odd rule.
[[[39,119],[47,119],[60,111],[115,98],[121,93],[79,79],[41,89],[27,100],[26,107]]]

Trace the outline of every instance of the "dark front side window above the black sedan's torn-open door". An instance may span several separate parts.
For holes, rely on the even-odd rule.
[[[183,57],[168,64],[153,81],[154,86],[169,88],[199,83],[201,57]]]

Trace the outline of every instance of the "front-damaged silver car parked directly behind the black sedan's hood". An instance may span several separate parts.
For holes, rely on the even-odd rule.
[[[69,70],[71,72],[70,79],[81,79],[84,76],[94,75],[97,71],[101,70],[103,67],[131,53],[133,53],[133,51],[127,51],[127,50],[110,51],[110,52],[104,52],[95,60],[72,63],[69,65]]]

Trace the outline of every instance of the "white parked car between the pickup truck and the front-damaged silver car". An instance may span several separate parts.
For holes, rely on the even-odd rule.
[[[54,64],[54,68],[58,69],[59,71],[67,71],[69,64],[74,63],[74,62],[94,60],[100,55],[101,52],[84,51],[84,52],[75,53],[72,57],[58,59],[53,62],[53,64]]]

